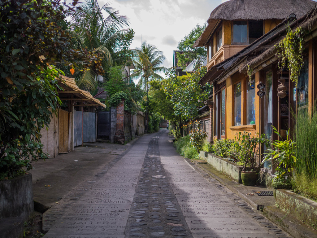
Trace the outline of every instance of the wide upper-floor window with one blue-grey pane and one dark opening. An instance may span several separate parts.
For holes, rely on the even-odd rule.
[[[263,21],[233,21],[233,44],[250,44],[262,35]]]

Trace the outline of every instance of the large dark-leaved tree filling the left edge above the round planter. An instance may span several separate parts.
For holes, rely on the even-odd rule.
[[[15,176],[45,158],[40,130],[61,101],[59,72],[84,52],[69,52],[70,36],[57,25],[69,7],[59,0],[0,2],[0,173]],[[76,2],[73,3],[74,5]],[[65,10],[63,10],[65,9]],[[75,63],[72,61],[71,63]]]

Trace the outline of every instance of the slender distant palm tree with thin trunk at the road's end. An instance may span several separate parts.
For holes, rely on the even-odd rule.
[[[133,60],[135,69],[131,78],[139,79],[138,85],[146,89],[146,130],[148,130],[148,115],[147,115],[147,98],[149,92],[149,82],[152,79],[164,79],[158,73],[165,73],[167,69],[160,66],[165,60],[163,52],[158,50],[155,45],[142,42],[141,48],[137,48],[137,59]]]

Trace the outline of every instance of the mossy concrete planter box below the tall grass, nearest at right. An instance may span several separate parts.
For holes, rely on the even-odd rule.
[[[285,189],[277,189],[275,199],[279,208],[317,230],[317,202]]]

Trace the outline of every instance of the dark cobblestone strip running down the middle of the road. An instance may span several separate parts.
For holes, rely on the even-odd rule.
[[[126,238],[192,238],[162,168],[158,136],[149,143],[126,225]]]

